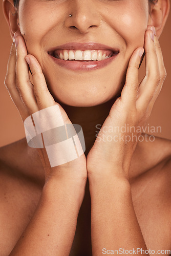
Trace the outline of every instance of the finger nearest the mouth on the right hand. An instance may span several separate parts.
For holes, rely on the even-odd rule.
[[[136,102],[139,87],[138,69],[143,52],[144,49],[142,47],[137,48],[131,56],[129,66],[127,68],[125,85],[121,92],[121,99],[127,106],[135,105]]]

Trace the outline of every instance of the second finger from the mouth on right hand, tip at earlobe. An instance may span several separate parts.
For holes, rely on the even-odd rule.
[[[146,75],[139,86],[137,109],[147,108],[160,84],[159,61],[153,36],[152,30],[147,29],[144,42]]]

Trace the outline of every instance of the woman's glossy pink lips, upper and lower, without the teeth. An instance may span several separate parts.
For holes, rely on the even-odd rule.
[[[53,57],[53,52],[56,50],[110,50],[113,52],[113,56],[104,60],[96,60],[96,61],[77,61],[77,60],[63,60]],[[85,42],[83,44],[78,42],[71,42],[69,44],[57,46],[51,48],[48,51],[49,56],[53,59],[53,61],[59,65],[60,67],[70,69],[70,70],[96,70],[103,68],[109,63],[111,63],[119,53],[119,49],[114,49],[106,45],[98,44],[96,42]]]

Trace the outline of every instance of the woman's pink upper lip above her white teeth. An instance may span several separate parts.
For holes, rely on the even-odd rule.
[[[70,42],[68,44],[60,45],[53,47],[48,50],[49,54],[52,54],[56,50],[110,50],[114,53],[118,53],[119,49],[118,48],[112,48],[103,44],[99,44],[97,42]]]

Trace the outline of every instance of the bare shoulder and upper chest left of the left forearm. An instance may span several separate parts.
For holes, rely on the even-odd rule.
[[[0,148],[1,255],[9,255],[41,195],[39,168],[31,157],[26,139]]]

